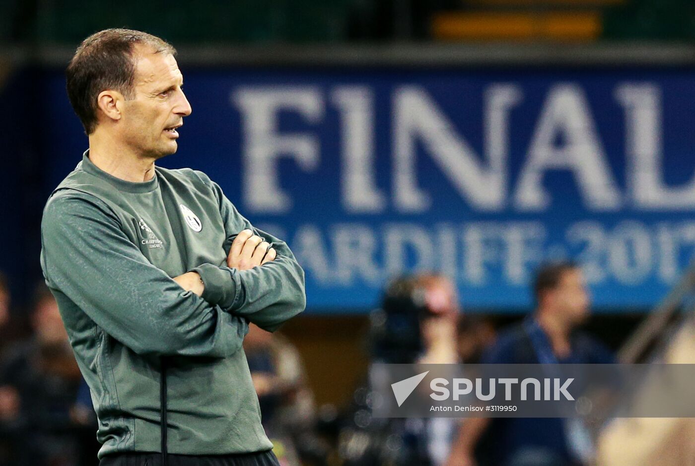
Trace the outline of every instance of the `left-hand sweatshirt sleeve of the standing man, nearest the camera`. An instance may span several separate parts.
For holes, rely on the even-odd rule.
[[[226,357],[241,347],[245,319],[183,290],[149,263],[96,197],[54,194],[44,208],[41,242],[49,287],[136,353]]]

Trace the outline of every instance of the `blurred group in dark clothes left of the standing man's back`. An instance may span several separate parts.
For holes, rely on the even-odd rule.
[[[11,310],[0,277],[0,465],[94,464],[96,419],[58,305],[40,283]]]

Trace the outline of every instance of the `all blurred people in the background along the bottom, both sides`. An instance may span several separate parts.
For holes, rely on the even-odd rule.
[[[395,278],[370,315],[370,361],[612,362],[602,344],[578,330],[589,310],[580,268],[541,268],[533,292],[534,312],[498,333],[488,320],[464,316],[448,278]],[[28,312],[13,312],[11,302],[0,276],[0,466],[95,464],[97,421],[56,301],[41,283]],[[252,326],[244,347],[281,465],[589,464],[591,445],[578,442],[562,419],[372,417],[371,364],[349,406],[318,409],[300,353],[281,333]]]

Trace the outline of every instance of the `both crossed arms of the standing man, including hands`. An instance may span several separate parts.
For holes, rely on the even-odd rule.
[[[84,313],[136,353],[225,357],[240,348],[247,321],[275,330],[304,309],[304,274],[291,251],[259,232],[282,253],[263,246],[259,260],[263,241],[247,227],[236,230],[227,265],[251,268],[203,264],[191,272],[204,283],[191,272],[172,279],[142,256],[103,201],[66,190],[44,209],[42,269],[56,297],[81,310],[63,316],[69,333],[82,328]]]

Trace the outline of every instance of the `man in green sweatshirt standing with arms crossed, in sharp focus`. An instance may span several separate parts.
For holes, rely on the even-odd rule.
[[[241,347],[302,312],[304,272],[220,186],[154,165],[190,115],[176,51],[108,29],[67,94],[89,149],[51,194],[41,266],[99,419],[101,466],[277,465]]]

